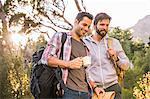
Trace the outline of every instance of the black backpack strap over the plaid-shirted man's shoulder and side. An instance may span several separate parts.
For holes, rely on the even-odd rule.
[[[64,43],[66,42],[66,39],[67,39],[67,34],[65,32],[62,32],[62,39],[61,39],[62,46],[61,46],[61,51],[60,51],[60,59],[63,59]],[[55,71],[56,78],[59,81],[59,83],[61,84],[61,88],[63,88],[65,90],[66,86],[64,84],[64,81],[61,77],[60,72],[61,72],[61,68],[58,67]]]

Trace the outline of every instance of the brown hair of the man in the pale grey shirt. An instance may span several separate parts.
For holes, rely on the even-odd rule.
[[[108,14],[106,14],[106,13],[98,13],[95,16],[94,25],[96,25],[99,20],[103,20],[103,19],[109,19],[109,20],[111,20],[111,17]]]

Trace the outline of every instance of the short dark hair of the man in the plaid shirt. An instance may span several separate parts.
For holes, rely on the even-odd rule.
[[[76,19],[80,22],[83,17],[88,17],[89,19],[93,20],[93,15],[88,12],[79,12],[76,16]]]

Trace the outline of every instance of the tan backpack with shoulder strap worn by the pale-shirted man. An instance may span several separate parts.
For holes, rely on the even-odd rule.
[[[112,48],[112,38],[108,38],[108,48]],[[117,65],[117,59],[114,58],[113,56],[110,56],[111,61],[114,64],[117,76],[118,76],[118,82],[120,86],[123,86],[123,80],[124,80],[124,75],[125,75],[125,70],[122,70],[118,65]]]

